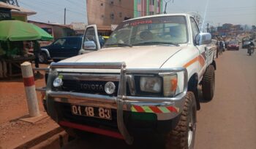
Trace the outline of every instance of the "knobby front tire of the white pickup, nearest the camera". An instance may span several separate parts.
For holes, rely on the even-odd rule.
[[[193,92],[187,92],[184,102],[184,108],[177,126],[171,130],[166,137],[166,149],[192,149],[195,144],[195,126],[197,105]],[[189,124],[192,120],[192,126]],[[193,128],[193,129],[192,129]],[[189,145],[189,130],[193,130],[191,143]]]

